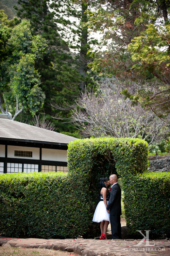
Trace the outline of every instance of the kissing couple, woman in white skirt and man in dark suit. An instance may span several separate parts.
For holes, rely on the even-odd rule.
[[[100,178],[100,202],[96,207],[94,217],[92,219],[93,222],[100,223],[100,240],[107,239],[106,232],[109,223],[111,223],[112,240],[121,239],[121,188],[117,179],[118,177],[116,174],[111,174],[109,180],[107,177]],[[111,185],[110,193],[107,188],[109,185]]]

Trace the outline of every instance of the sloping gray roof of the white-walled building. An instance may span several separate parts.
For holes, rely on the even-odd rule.
[[[16,122],[9,119],[0,119],[0,140],[15,140],[38,143],[68,144],[77,138],[49,131],[33,125]]]

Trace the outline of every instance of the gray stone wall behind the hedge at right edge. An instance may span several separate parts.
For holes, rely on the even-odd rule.
[[[149,172],[170,172],[170,157],[149,160]]]

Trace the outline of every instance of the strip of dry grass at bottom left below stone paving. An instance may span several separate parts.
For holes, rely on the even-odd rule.
[[[0,256],[76,256],[77,254],[44,248],[0,247]]]

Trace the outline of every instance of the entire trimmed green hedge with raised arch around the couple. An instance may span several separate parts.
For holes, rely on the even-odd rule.
[[[129,231],[168,233],[170,179],[168,175],[158,179],[157,174],[153,179],[153,174],[147,174],[148,166],[148,144],[141,139],[70,142],[67,175],[0,176],[0,232],[47,239],[95,237],[98,226],[92,223],[92,216],[98,203],[99,177],[116,173],[124,186]]]

